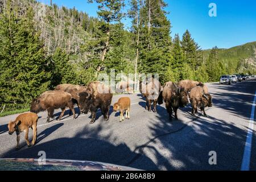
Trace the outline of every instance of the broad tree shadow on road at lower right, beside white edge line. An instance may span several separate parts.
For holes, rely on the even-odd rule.
[[[134,152],[138,155],[127,165],[137,167],[143,163],[141,156],[153,155],[157,168],[147,166],[146,170],[240,170],[246,130],[212,116],[207,121],[204,117],[191,118],[189,113],[184,115],[190,119],[188,122],[168,122],[167,114],[157,116],[160,122],[152,120],[153,137],[137,146]],[[218,165],[208,163],[209,151],[217,152]]]

